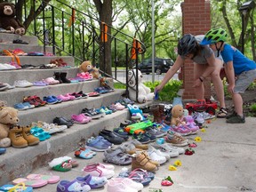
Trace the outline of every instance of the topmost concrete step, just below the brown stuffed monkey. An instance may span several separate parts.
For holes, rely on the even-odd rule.
[[[16,34],[0,33],[1,43],[12,43],[12,41],[16,39],[28,42],[28,44],[38,44],[38,38],[36,36],[19,36]]]

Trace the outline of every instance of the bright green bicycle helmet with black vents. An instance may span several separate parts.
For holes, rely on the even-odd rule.
[[[227,41],[227,33],[223,28],[212,28],[209,30],[201,44],[216,44],[217,42]]]

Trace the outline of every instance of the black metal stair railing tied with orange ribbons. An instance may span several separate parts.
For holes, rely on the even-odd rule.
[[[73,56],[76,66],[84,60],[92,60],[92,63],[97,68],[111,65],[111,67],[115,68],[114,76],[108,74],[105,68],[99,68],[101,74],[111,77],[121,84],[125,84],[127,93],[129,87],[128,70],[132,66],[138,68],[138,57],[146,52],[144,44],[133,36],[124,34],[124,32],[68,4],[61,3],[59,0],[54,1],[54,4],[44,0],[42,2],[32,2],[30,6],[34,8],[34,12],[38,12],[40,9],[42,9],[42,12],[37,15],[34,14],[34,20],[29,25],[27,31],[28,34],[38,37],[41,44],[44,45],[44,52],[47,46],[52,46],[52,53],[55,55]],[[39,7],[37,10],[36,4]],[[24,4],[23,10],[23,20],[26,20],[29,10],[28,4]],[[100,25],[102,25],[101,28]],[[108,30],[104,30],[105,27]],[[108,32],[109,30],[115,36],[112,36]],[[100,65],[100,57],[106,57],[106,49],[104,47],[107,39],[111,41],[111,60],[110,63]],[[118,52],[124,53],[121,60],[124,62],[122,66],[125,68],[125,83],[117,78],[117,68],[120,67],[120,58],[117,58]],[[105,62],[105,59],[103,61]],[[138,84],[138,78],[136,83]],[[136,86],[136,92],[138,92],[138,86]]]

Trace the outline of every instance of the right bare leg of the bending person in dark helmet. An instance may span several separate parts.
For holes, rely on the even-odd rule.
[[[215,92],[217,94],[218,100],[220,101],[220,108],[226,108],[224,99],[224,88],[222,81],[220,79],[220,69],[223,67],[222,60],[216,59],[216,68],[212,72],[212,83],[214,85]]]

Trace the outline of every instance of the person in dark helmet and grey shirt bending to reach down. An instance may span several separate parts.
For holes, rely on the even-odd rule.
[[[221,56],[217,57],[208,45],[200,45],[203,39],[204,35],[192,36],[191,34],[185,34],[180,38],[178,57],[172,68],[165,74],[162,82],[156,86],[155,93],[160,92],[164,88],[164,85],[182,67],[185,60],[193,60],[194,74],[191,74],[191,76],[195,79],[193,88],[195,89],[196,100],[204,99],[204,81],[206,77],[211,76],[215,92],[220,101],[221,111],[217,117],[226,117],[228,112],[225,106],[223,84],[220,79],[220,69],[223,68],[223,60]]]

